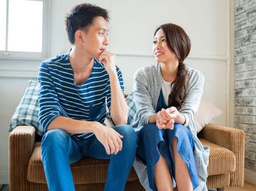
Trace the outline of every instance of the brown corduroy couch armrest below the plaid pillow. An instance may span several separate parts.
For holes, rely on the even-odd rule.
[[[28,161],[35,143],[33,126],[17,126],[9,134],[9,190],[29,190]]]

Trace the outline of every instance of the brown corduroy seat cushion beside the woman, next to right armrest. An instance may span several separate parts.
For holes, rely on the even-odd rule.
[[[200,138],[200,141],[203,146],[210,147],[208,175],[233,173],[235,171],[235,155],[232,151],[210,143],[203,138]]]

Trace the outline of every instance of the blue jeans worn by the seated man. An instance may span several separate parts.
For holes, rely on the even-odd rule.
[[[136,154],[137,136],[129,125],[116,126],[114,130],[124,136],[122,151],[117,155],[107,155],[95,135],[78,141],[61,129],[47,131],[42,138],[41,148],[48,189],[75,190],[70,163],[82,158],[110,158],[104,190],[124,190]]]

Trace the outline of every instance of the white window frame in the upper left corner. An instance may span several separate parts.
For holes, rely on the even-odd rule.
[[[0,60],[46,60],[49,54],[49,0],[33,0],[43,2],[42,52],[23,52],[0,50]],[[9,0],[6,0],[6,49],[8,45]]]

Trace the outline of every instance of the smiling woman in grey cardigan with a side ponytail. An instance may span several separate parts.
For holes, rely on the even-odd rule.
[[[137,156],[152,190],[207,190],[208,148],[196,136],[193,116],[203,94],[203,75],[183,60],[191,42],[172,23],[154,33],[156,64],[138,70],[134,97],[139,116]],[[141,178],[142,179],[142,178]]]

